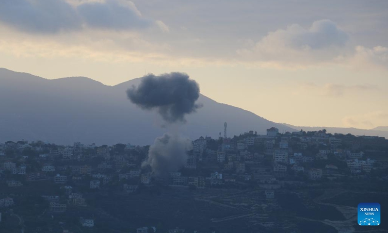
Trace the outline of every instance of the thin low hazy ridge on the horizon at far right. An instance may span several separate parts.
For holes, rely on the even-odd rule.
[[[308,126],[293,126],[290,124],[284,124],[285,126],[288,126],[294,130],[300,131],[320,131],[325,129],[327,133],[343,133],[348,134],[351,133],[353,135],[366,135],[366,136],[380,136],[385,137],[388,139],[388,131],[383,130],[363,130],[363,129],[356,129],[356,128],[339,128],[339,127],[308,127]]]

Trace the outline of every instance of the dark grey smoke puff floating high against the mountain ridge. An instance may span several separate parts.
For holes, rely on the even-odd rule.
[[[200,107],[199,86],[185,73],[173,72],[143,77],[139,86],[127,90],[129,100],[142,109],[158,109],[166,122],[186,122],[185,115]]]

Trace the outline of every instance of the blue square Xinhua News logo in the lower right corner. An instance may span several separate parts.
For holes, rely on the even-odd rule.
[[[358,204],[358,225],[378,226],[380,222],[379,203],[359,203]]]

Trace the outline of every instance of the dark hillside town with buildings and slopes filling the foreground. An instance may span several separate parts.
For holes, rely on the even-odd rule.
[[[229,232],[223,227],[233,221],[246,221],[249,229],[263,232],[285,230],[286,225],[298,232],[300,225],[295,223],[290,229],[290,222],[276,221],[273,215],[291,211],[284,199],[291,201],[294,196],[303,200],[307,209],[335,206],[340,217],[332,220],[343,220],[343,224],[321,223],[326,219],[323,216],[317,216],[316,221],[329,227],[323,231],[339,231],[355,228],[351,219],[356,206],[338,200],[323,204],[324,200],[349,195],[349,190],[357,190],[350,191],[352,195],[361,190],[378,193],[384,190],[371,190],[368,183],[388,181],[388,140],[377,136],[325,130],[279,133],[273,127],[266,135],[249,131],[232,138],[200,137],[193,141],[186,165],[168,177],[155,177],[149,167],[141,166],[148,148],[131,144],[1,143],[0,232],[222,233]],[[386,192],[382,193],[384,199]],[[225,216],[204,215],[204,224],[196,226],[155,218],[174,207],[153,204],[152,209],[143,204],[161,197],[167,203],[174,195],[213,205],[209,213],[223,208],[225,211],[214,216],[222,212]],[[113,207],[112,200],[118,205]],[[124,211],[127,201],[131,206],[128,212]],[[301,221],[313,218],[295,217]],[[107,222],[115,225],[110,226],[115,230],[107,231]]]

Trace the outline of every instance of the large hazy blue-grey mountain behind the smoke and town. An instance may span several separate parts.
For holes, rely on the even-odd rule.
[[[48,80],[0,68],[0,142],[25,139],[58,144],[150,144],[177,127],[162,128],[160,116],[139,109],[127,99],[126,90],[140,81],[137,78],[107,86],[86,77]],[[270,127],[293,131],[203,95],[198,102],[203,107],[187,116],[188,123],[178,129],[192,139],[218,137],[224,132],[224,122],[228,123],[228,136],[249,130],[265,134]]]

